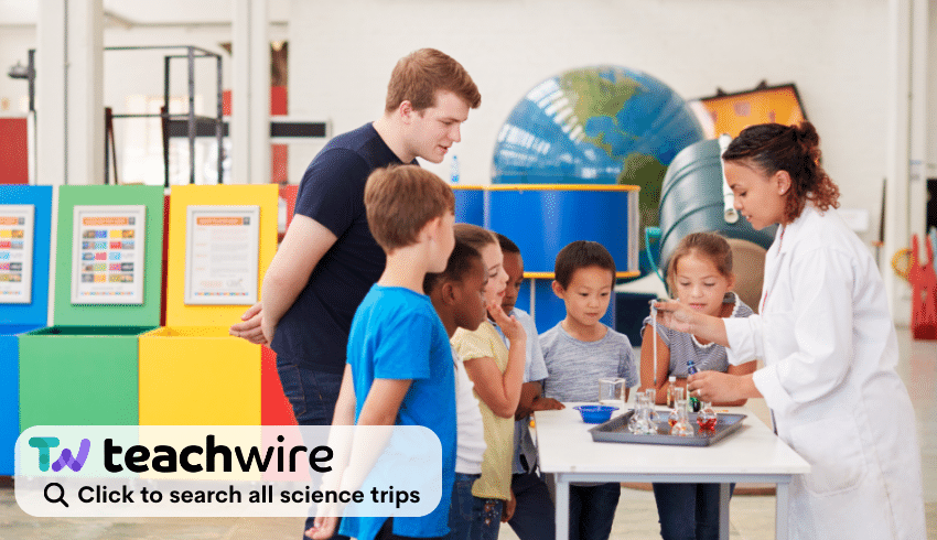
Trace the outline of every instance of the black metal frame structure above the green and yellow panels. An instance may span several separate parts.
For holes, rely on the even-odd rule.
[[[139,114],[139,115],[114,115],[114,118],[155,118],[162,119],[163,132],[163,165],[165,168],[164,186],[169,187],[169,122],[172,120],[185,120],[187,126],[189,139],[189,183],[195,183],[195,137],[196,126],[200,123],[214,125],[215,140],[218,143],[218,183],[223,181],[223,162],[224,162],[224,105],[222,89],[222,56],[219,54],[206,51],[193,45],[141,45],[141,46],[123,46],[123,47],[105,47],[105,51],[152,51],[152,50],[185,50],[185,54],[168,54],[163,58],[163,107],[159,114]],[[170,115],[170,63],[173,58],[187,60],[189,72],[189,112],[184,115]],[[215,58],[217,64],[217,116],[205,117],[195,115],[195,58]],[[105,183],[107,180],[107,168],[105,168]]]

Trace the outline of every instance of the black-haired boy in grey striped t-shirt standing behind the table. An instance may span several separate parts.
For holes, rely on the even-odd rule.
[[[599,379],[638,382],[634,349],[627,336],[600,323],[615,287],[615,260],[601,244],[574,241],[560,250],[553,293],[562,299],[567,316],[540,334],[549,376],[543,395],[559,401],[596,401]],[[570,485],[570,539],[607,540],[612,532],[621,486]]]

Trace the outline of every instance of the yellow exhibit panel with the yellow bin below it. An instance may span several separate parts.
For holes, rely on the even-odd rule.
[[[276,185],[173,186],[166,326],[140,336],[140,425],[259,425],[261,348],[228,335],[277,249]]]

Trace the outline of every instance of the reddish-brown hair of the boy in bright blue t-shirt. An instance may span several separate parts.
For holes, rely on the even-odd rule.
[[[384,251],[411,246],[428,223],[455,210],[442,179],[417,165],[377,169],[365,185],[368,228]]]

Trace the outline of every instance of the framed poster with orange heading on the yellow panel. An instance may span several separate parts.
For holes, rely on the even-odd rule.
[[[185,303],[257,302],[259,206],[189,206]]]

